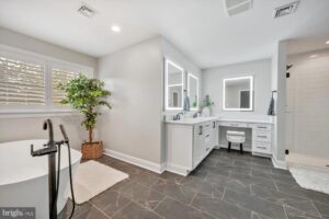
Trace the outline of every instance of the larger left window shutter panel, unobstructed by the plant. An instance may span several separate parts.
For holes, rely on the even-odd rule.
[[[45,105],[45,67],[0,55],[0,106]]]

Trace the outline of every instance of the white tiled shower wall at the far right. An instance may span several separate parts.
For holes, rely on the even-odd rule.
[[[317,54],[318,57],[309,58]],[[329,49],[288,56],[287,148],[329,158]]]

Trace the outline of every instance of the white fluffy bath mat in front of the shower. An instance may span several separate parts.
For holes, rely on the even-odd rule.
[[[292,166],[290,171],[300,187],[329,194],[329,169]]]

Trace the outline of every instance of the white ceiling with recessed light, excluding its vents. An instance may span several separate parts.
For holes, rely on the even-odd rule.
[[[98,11],[88,19],[77,12],[81,0],[1,0],[0,26],[94,57],[162,35],[209,68],[270,58],[280,39],[329,39],[329,1],[300,0],[294,14],[273,20],[273,9],[291,1],[253,0],[252,10],[228,18],[223,0],[84,0]]]

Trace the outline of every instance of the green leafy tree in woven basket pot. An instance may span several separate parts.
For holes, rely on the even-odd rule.
[[[70,80],[68,83],[60,83],[59,89],[66,93],[60,102],[64,105],[70,105],[72,108],[82,113],[84,118],[81,123],[88,130],[88,142],[82,143],[82,158],[94,159],[103,154],[102,141],[93,141],[93,129],[95,128],[97,117],[101,114],[100,106],[111,108],[106,97],[111,95],[110,91],[104,90],[104,82],[99,79],[89,79],[83,74]]]

